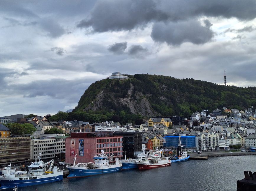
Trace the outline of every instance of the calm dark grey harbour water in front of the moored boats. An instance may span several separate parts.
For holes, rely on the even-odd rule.
[[[237,190],[244,170],[256,171],[256,155],[189,160],[151,170],[122,170],[94,177],[67,179],[19,191],[80,190]]]

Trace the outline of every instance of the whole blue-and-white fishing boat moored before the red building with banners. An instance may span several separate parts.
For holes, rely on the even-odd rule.
[[[73,165],[67,165],[69,175],[67,178],[86,177],[92,175],[106,174],[111,172],[118,172],[122,168],[122,163],[119,163],[119,158],[115,158],[115,163],[109,163],[107,155],[104,150],[101,150],[99,155],[95,155],[93,162],[80,162],[76,164],[76,155]]]

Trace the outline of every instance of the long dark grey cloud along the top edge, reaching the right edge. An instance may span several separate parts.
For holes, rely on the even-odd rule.
[[[251,20],[256,17],[256,1],[101,0],[77,27],[91,27],[94,32],[121,31],[143,27],[151,21],[180,21],[200,16]]]

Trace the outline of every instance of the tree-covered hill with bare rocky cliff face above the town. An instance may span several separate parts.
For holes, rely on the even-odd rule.
[[[216,108],[256,106],[256,87],[241,88],[215,83],[148,74],[127,80],[103,79],[91,84],[74,111],[125,112],[142,116],[181,115]]]

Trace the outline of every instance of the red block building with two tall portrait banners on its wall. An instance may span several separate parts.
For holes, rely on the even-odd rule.
[[[66,138],[66,162],[73,163],[76,155],[76,163],[94,162],[95,154],[100,154],[105,149],[108,157],[123,157],[123,137],[113,136],[112,132],[88,132],[71,133]]]

